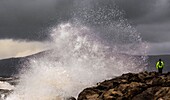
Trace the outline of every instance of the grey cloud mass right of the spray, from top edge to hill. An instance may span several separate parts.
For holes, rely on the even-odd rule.
[[[152,43],[170,41],[169,0],[117,0],[117,3],[143,40]]]

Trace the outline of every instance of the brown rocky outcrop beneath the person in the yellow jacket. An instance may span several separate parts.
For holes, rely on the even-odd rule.
[[[170,100],[170,72],[123,74],[84,89],[78,100]]]

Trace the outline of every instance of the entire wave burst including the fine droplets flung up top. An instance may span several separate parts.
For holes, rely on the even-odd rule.
[[[147,45],[116,4],[81,3],[71,20],[51,28],[50,53],[30,59],[30,69],[21,71],[20,83],[6,100],[77,97],[97,82],[144,70],[144,60],[130,54],[145,54]]]

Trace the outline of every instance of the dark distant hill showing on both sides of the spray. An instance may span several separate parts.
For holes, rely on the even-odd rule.
[[[50,51],[43,51],[26,57],[2,59],[0,60],[0,76],[9,77],[17,75],[18,72],[24,67],[24,64],[27,63],[30,58],[39,58],[46,53],[50,53]],[[156,71],[155,63],[159,58],[165,62],[164,72],[170,71],[170,55],[148,56],[147,70]]]

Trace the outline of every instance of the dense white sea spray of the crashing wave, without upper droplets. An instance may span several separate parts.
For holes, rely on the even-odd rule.
[[[138,59],[90,39],[91,30],[71,23],[52,30],[51,53],[30,59],[29,69],[7,100],[56,100],[77,96],[85,87],[144,67]],[[137,62],[137,63],[135,63]]]

